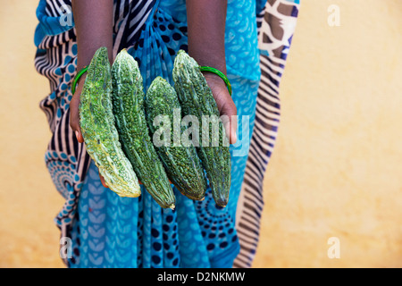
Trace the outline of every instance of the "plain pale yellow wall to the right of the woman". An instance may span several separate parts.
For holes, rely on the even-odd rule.
[[[402,266],[401,27],[400,0],[302,0],[255,267]]]

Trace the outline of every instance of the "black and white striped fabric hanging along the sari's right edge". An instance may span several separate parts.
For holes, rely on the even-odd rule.
[[[277,137],[281,117],[280,82],[293,33],[298,1],[269,0],[258,22],[261,81],[255,111],[255,127],[247,157],[236,229],[240,252],[233,267],[251,267],[260,236],[264,208],[263,181]],[[268,51],[268,53],[265,53]]]

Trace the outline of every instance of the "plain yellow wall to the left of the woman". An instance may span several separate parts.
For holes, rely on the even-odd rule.
[[[53,218],[63,206],[44,154],[50,139],[39,101],[49,85],[34,68],[38,1],[0,0],[0,266],[63,266]]]

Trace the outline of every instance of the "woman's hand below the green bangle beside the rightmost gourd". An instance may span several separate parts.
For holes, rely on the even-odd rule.
[[[216,105],[218,105],[219,113],[226,115],[222,117],[223,126],[226,130],[226,136],[229,139],[230,144],[236,143],[237,135],[237,108],[233,100],[230,97],[229,90],[226,87],[224,81],[214,73],[203,72],[206,83],[211,88]]]

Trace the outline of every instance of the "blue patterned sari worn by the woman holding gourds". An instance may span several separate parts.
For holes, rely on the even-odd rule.
[[[46,151],[46,166],[57,190],[66,199],[55,218],[62,236],[71,239],[72,251],[71,256],[64,260],[66,265],[135,268],[233,266],[240,251],[239,228],[258,232],[257,225],[245,220],[242,223],[246,222],[246,225],[239,226],[236,217],[239,215],[240,191],[245,186],[250,142],[253,142],[261,77],[258,22],[261,24],[264,16],[265,2],[228,1],[226,62],[239,114],[239,142],[230,146],[232,181],[229,204],[225,208],[216,206],[210,188],[205,200],[193,201],[172,185],[177,200],[174,211],[158,206],[143,186],[139,198],[120,198],[102,186],[84,144],[76,141],[69,127],[71,81],[77,64],[73,19],[70,23],[67,21],[71,3],[68,0],[39,2],[36,67],[49,79],[51,88],[40,107],[53,133]],[[121,48],[128,49],[138,61],[145,91],[156,76],[162,76],[173,84],[174,57],[179,49],[187,50],[185,0],[115,0],[113,12],[113,54],[116,55]],[[263,169],[265,165],[262,165]],[[253,181],[247,182],[255,185]],[[247,207],[244,200],[242,204]],[[261,213],[261,209],[256,213]],[[255,248],[256,245],[245,248],[250,261],[240,260],[238,266],[250,265]]]

